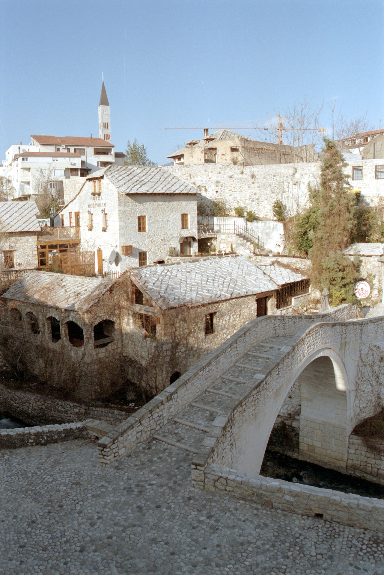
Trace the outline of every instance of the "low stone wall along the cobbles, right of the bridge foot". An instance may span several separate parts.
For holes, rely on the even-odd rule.
[[[384,530],[384,500],[341,493],[271,477],[249,477],[226,467],[208,466],[203,475],[192,467],[197,488],[226,493],[290,513],[315,516],[344,525]]]

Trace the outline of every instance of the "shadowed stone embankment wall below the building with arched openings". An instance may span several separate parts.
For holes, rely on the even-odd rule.
[[[127,419],[127,413],[120,409],[63,401],[3,385],[0,385],[0,411],[18,417],[29,425],[73,423],[86,419],[101,419],[110,425],[117,425]]]

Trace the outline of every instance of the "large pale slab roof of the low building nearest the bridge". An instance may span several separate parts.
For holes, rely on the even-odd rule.
[[[199,258],[196,262],[129,271],[162,309],[252,296],[273,292],[279,287],[242,256]]]

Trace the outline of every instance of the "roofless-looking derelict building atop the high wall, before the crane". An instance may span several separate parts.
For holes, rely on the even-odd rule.
[[[249,136],[221,129],[212,134],[204,130],[200,140],[190,140],[184,148],[169,154],[174,165],[188,164],[291,164],[315,162],[318,158],[313,145],[294,148],[290,145],[272,144],[254,140]]]

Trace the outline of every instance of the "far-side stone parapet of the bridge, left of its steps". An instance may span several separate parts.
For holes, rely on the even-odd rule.
[[[265,316],[250,321],[215,351],[207,354],[202,361],[178,378],[176,382],[135,412],[134,416],[128,417],[126,421],[117,425],[111,434],[100,439],[98,442],[100,463],[108,465],[122,455],[130,453],[138,444],[150,439],[178,412],[205,392],[220,375],[225,374],[256,342],[295,334],[300,337],[313,323],[347,321],[354,317],[356,317],[355,306],[342,305],[318,315]],[[216,428],[217,425],[212,427],[212,433]],[[216,440],[217,435],[213,437]],[[210,442],[212,443],[212,440]],[[203,445],[200,451],[204,459],[211,452],[211,447]]]

